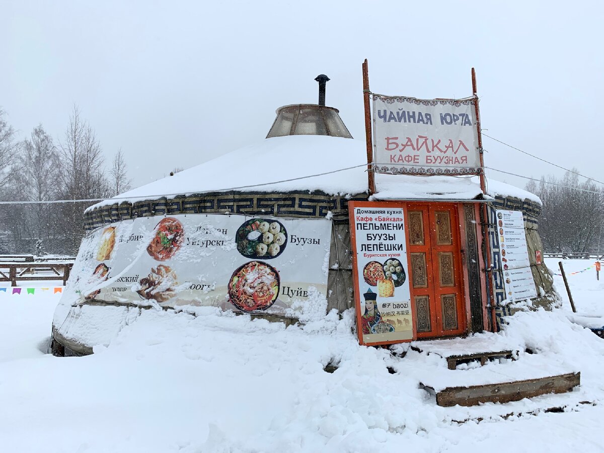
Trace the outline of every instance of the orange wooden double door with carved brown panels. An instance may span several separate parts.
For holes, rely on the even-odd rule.
[[[418,338],[466,330],[455,204],[407,204],[411,300]]]

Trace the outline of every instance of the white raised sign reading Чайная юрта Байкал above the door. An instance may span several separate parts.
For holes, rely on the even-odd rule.
[[[379,173],[478,174],[477,130],[475,98],[373,95],[373,161]]]

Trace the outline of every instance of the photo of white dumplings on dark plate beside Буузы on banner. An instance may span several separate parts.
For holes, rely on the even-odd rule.
[[[271,219],[250,219],[237,228],[237,250],[246,258],[273,259],[288,245],[283,223]]]

